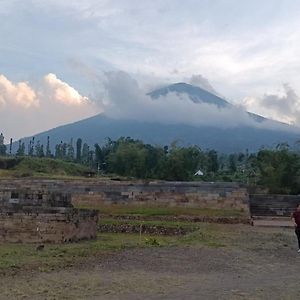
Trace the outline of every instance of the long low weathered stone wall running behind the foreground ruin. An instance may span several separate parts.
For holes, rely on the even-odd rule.
[[[64,191],[76,205],[147,205],[237,209],[249,212],[248,192],[237,183],[0,180],[1,187]]]

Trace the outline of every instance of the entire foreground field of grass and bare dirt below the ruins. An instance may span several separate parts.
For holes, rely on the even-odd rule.
[[[0,299],[299,299],[291,229],[204,224],[184,236],[99,233],[0,245]]]

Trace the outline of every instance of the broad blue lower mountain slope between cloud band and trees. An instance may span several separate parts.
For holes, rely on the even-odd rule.
[[[299,139],[294,132],[274,131],[251,127],[220,129],[209,126],[166,125],[131,120],[112,120],[97,115],[76,123],[67,124],[37,134],[35,140],[46,144],[50,136],[51,146],[60,141],[82,138],[90,145],[103,143],[105,138],[117,139],[130,136],[146,143],[168,145],[178,141],[183,145],[199,145],[201,148],[216,149],[221,152],[255,151],[261,146],[275,146],[280,142],[293,144]],[[29,139],[24,139],[26,143]],[[14,145],[16,150],[17,145]]]

